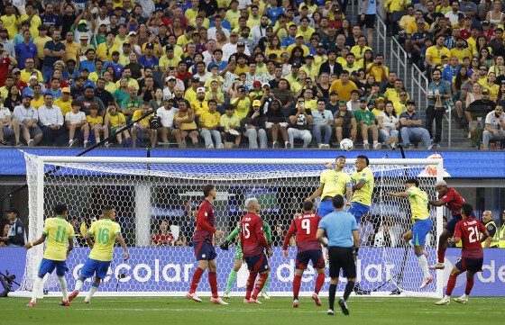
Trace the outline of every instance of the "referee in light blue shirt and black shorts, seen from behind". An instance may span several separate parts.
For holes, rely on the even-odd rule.
[[[329,253],[331,282],[328,315],[335,315],[335,291],[340,269],[344,270],[347,285],[345,286],[344,296],[340,298],[338,304],[342,308],[342,312],[348,315],[347,298],[353,292],[354,283],[356,282],[356,265],[354,262],[358,257],[358,248],[360,246],[358,224],[351,213],[344,212],[344,197],[342,195],[335,195],[333,206],[335,211],[326,214],[325,218],[319,221],[316,237],[319,242],[328,247]],[[326,238],[323,238],[325,232]]]

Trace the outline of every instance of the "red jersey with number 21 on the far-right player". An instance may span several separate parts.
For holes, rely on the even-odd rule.
[[[473,218],[466,218],[456,223],[454,237],[459,237],[462,240],[461,256],[465,258],[482,258],[484,257],[481,245],[481,234],[486,227],[481,221]]]

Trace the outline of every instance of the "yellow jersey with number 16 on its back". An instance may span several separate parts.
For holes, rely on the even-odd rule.
[[[91,223],[87,233],[95,237],[95,244],[91,249],[89,258],[104,262],[111,261],[115,236],[120,232],[121,227],[119,227],[119,224],[110,219],[102,219]]]

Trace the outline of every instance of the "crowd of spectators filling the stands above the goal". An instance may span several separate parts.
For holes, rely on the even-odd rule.
[[[487,149],[505,140],[501,7],[476,15],[472,2],[445,3],[384,4],[409,60],[435,74],[423,121],[425,108],[372,50],[375,2],[363,1],[353,24],[347,1],[4,1],[0,140],[88,147],[115,134],[106,147],[327,149],[349,138],[363,149],[436,149],[440,108],[454,103]]]

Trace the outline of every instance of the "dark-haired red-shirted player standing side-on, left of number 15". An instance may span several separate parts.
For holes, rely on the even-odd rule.
[[[216,187],[214,185],[205,185],[204,196],[205,200],[198,208],[197,230],[195,230],[195,235],[193,236],[193,248],[195,249],[195,257],[197,257],[198,267],[193,274],[191,288],[189,289],[189,292],[186,293],[186,298],[195,302],[202,302],[195,292],[197,291],[197,285],[200,282],[200,277],[208,268],[208,283],[210,284],[210,290],[212,292],[210,302],[216,304],[228,304],[227,302],[223,302],[217,294],[216,249],[214,248],[213,241],[214,234],[216,234],[217,237],[223,237],[225,236],[225,232],[214,228],[215,217],[212,203],[216,200]]]

